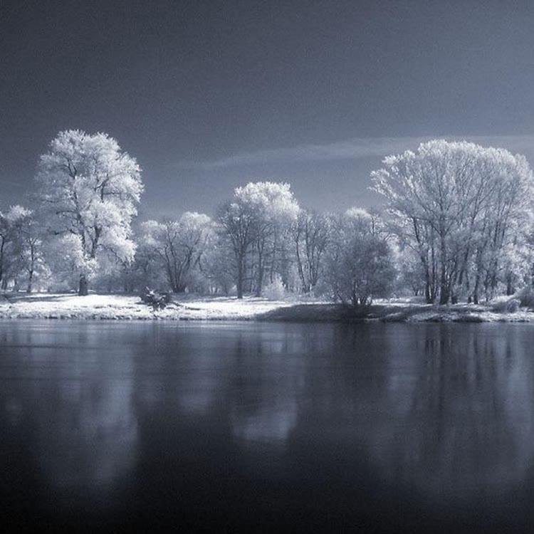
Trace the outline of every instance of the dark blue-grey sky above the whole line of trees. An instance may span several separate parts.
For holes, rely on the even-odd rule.
[[[67,128],[137,157],[142,216],[259,179],[369,206],[370,170],[429,137],[534,164],[533,1],[0,0],[0,54],[1,208]]]

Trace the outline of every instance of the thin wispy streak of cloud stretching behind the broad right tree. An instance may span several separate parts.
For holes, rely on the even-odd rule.
[[[212,161],[182,162],[180,167],[189,169],[224,169],[246,167],[273,162],[314,162],[362,157],[385,157],[404,150],[413,150],[421,142],[439,137],[446,140],[467,140],[480,145],[504,147],[513,152],[532,151],[534,135],[439,135],[429,137],[370,137],[355,138],[327,145],[298,145],[290,148],[259,150],[248,154],[237,154]]]

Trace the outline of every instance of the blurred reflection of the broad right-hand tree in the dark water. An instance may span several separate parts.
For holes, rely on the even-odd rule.
[[[435,493],[498,492],[521,483],[534,456],[525,334],[427,325],[404,345],[397,337],[382,398],[389,417],[365,436],[370,456],[395,480]]]

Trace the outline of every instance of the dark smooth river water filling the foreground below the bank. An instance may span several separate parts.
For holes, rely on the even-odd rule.
[[[0,323],[13,530],[531,530],[533,466],[529,325]]]

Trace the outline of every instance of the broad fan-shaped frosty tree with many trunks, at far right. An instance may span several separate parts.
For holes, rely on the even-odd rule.
[[[372,173],[402,247],[417,254],[426,300],[490,298],[506,278],[504,250],[533,209],[525,157],[468,142],[434,140],[384,159]],[[513,244],[515,241],[515,244]]]

